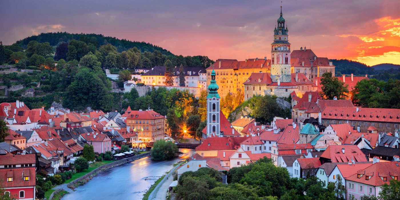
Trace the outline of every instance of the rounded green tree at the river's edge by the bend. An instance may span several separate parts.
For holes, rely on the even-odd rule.
[[[157,140],[151,150],[153,160],[166,160],[175,158],[178,153],[178,147],[171,141]]]

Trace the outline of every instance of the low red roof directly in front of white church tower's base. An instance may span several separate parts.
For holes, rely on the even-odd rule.
[[[240,143],[247,139],[247,137],[208,137],[196,147],[196,151],[237,150]]]

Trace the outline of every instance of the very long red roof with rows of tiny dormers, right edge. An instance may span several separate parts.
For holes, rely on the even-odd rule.
[[[400,109],[326,107],[322,118],[370,122],[400,122]]]

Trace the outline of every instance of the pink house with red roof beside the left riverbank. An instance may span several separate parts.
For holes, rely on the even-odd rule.
[[[94,152],[105,153],[106,151],[111,151],[111,139],[107,134],[99,133],[86,133],[81,134],[86,143],[93,145]]]

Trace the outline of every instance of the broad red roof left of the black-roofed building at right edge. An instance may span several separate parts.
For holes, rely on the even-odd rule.
[[[344,149],[344,153],[342,149]],[[368,161],[365,154],[356,145],[330,145],[321,154],[321,158],[329,159],[331,162],[349,162],[352,159],[355,162]]]

